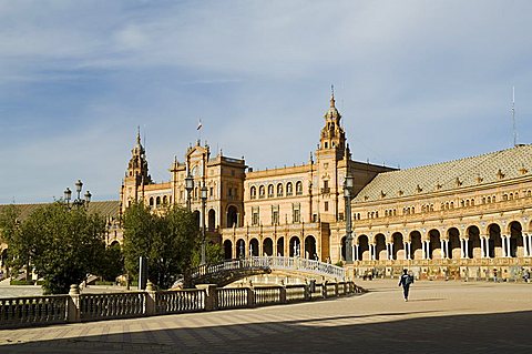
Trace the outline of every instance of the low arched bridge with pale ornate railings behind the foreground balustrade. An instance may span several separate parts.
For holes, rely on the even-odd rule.
[[[326,280],[346,279],[345,269],[329,263],[300,257],[252,256],[201,265],[192,273],[192,282],[225,286],[247,276],[269,274],[274,271]]]

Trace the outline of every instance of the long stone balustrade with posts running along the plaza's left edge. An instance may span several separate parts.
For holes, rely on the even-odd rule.
[[[360,293],[352,282],[0,299],[0,328],[255,307]]]

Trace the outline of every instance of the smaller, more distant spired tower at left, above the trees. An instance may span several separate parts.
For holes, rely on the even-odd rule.
[[[141,131],[136,132],[136,144],[131,150],[131,159],[125,171],[121,190],[121,212],[133,201],[142,201],[144,198],[144,185],[151,184],[152,178],[147,173],[146,151],[141,143]]]

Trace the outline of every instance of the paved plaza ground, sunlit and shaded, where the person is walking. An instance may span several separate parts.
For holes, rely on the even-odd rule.
[[[532,353],[532,284],[358,283],[351,297],[0,331],[0,353]]]

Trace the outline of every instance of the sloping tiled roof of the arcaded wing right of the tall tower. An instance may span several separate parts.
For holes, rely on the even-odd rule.
[[[531,173],[532,145],[523,144],[479,156],[380,173],[357,194],[354,202],[457,190]]]

